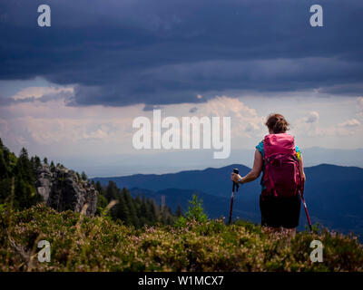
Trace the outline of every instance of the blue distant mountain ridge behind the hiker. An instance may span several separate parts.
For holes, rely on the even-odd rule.
[[[178,203],[186,210],[193,192],[203,198],[206,211],[212,218],[227,215],[231,197],[231,171],[240,169],[241,175],[250,169],[231,164],[220,169],[186,170],[171,174],[137,174],[127,177],[95,178],[103,185],[113,180],[118,187],[131,189],[132,194],[158,198],[165,196],[166,204],[175,208]],[[354,231],[363,235],[363,169],[330,164],[305,169],[307,182],[305,198],[314,223],[342,232]],[[260,179],[259,179],[260,180]],[[260,181],[240,186],[236,195],[234,217],[260,222]],[[306,220],[301,210],[300,225]]]

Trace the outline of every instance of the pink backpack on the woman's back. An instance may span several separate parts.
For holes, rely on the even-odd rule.
[[[286,134],[269,134],[263,142],[265,195],[288,198],[299,193],[301,179],[294,137]]]

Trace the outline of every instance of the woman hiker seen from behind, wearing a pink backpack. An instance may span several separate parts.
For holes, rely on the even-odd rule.
[[[261,224],[270,231],[294,234],[299,226],[299,189],[305,182],[299,147],[287,134],[289,123],[281,114],[270,114],[266,121],[269,135],[256,146],[253,168],[244,177],[232,173],[231,180],[244,184],[260,177]]]

